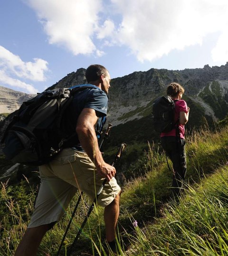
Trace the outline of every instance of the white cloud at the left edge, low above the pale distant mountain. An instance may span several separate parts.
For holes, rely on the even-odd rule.
[[[36,93],[32,85],[22,81],[45,81],[45,72],[48,70],[47,61],[34,58],[34,61],[24,62],[18,55],[0,46],[0,81],[5,85],[26,89],[29,93]]]

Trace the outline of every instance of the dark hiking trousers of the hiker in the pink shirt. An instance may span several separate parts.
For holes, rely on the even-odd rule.
[[[161,137],[161,146],[165,150],[167,157],[172,161],[172,167],[175,173],[172,177],[173,193],[174,195],[179,195],[187,170],[185,139],[180,138],[179,143],[177,143],[176,137],[174,136]]]

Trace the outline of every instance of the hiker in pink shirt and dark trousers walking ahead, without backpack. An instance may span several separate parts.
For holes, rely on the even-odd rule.
[[[172,188],[174,196],[180,194],[180,188],[187,170],[184,125],[188,122],[190,108],[181,99],[183,93],[184,89],[178,83],[171,83],[167,87],[167,95],[175,101],[175,126],[171,131],[161,133],[161,146],[173,165]]]

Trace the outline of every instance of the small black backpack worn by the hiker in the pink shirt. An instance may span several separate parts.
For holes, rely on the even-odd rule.
[[[175,128],[175,102],[170,96],[157,98],[152,105],[153,125],[156,132],[169,132]]]

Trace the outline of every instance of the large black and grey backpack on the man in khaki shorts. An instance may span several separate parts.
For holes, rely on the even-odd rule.
[[[23,102],[6,128],[1,148],[14,163],[40,166],[60,152],[67,141],[76,136],[75,128],[66,132],[65,113],[73,95],[94,85],[79,85],[70,89],[46,90]]]

